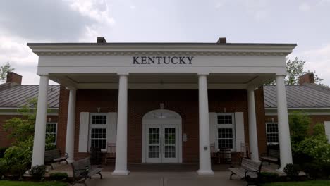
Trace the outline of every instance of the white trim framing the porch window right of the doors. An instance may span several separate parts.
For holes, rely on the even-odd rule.
[[[231,116],[231,120],[233,124],[218,124],[218,116]],[[216,113],[216,138],[215,138],[215,145],[216,149],[219,151],[219,128],[231,128],[233,131],[233,149],[231,151],[236,151],[236,125],[235,125],[235,113]]]

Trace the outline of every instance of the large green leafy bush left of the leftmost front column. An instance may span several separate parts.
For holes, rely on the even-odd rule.
[[[37,113],[37,99],[30,99],[26,106],[18,109],[21,117],[6,120],[4,130],[13,139],[13,146],[6,149],[4,158],[0,159],[0,176],[16,175],[19,179],[31,167],[33,137],[35,132],[35,118]],[[46,137],[45,149],[55,149],[52,136]]]

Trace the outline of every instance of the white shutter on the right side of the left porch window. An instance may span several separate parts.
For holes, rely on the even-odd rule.
[[[108,113],[106,117],[106,142],[116,143],[117,138],[117,113]]]

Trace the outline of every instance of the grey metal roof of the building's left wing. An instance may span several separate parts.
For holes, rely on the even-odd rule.
[[[59,108],[59,85],[49,85],[48,106],[52,109]],[[39,85],[15,85],[0,89],[1,108],[19,108],[28,104],[28,100],[38,96]]]

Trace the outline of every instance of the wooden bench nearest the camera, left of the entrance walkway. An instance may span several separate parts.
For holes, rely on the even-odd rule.
[[[73,172],[73,179],[75,182],[73,182],[73,185],[76,183],[83,183],[86,185],[85,181],[87,178],[92,178],[92,175],[99,174],[100,178],[102,179],[102,168],[92,168],[90,165],[90,159],[80,159],[78,161],[75,161],[71,163],[72,166],[72,172]],[[87,185],[86,185],[87,186]]]

